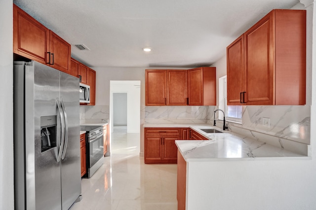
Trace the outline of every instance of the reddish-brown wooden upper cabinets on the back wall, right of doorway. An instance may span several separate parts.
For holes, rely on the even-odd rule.
[[[146,70],[146,105],[216,105],[216,68]]]

